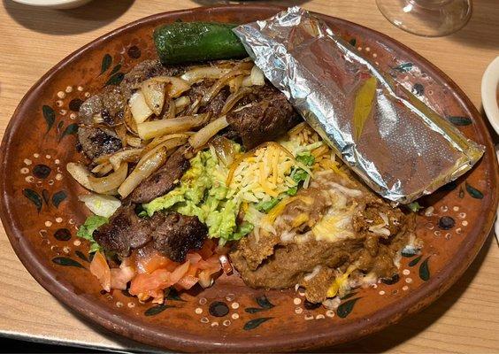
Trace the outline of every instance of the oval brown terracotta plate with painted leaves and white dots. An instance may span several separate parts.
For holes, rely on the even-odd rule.
[[[1,215],[27,270],[59,300],[97,324],[173,350],[304,350],[346,342],[386,327],[430,304],[457,280],[485,241],[497,206],[498,172],[479,112],[461,89],[401,43],[342,19],[322,16],[395,80],[487,146],[480,163],[421,203],[421,254],[405,254],[400,276],[357,289],[335,311],[304,301],[294,289],[249,289],[221,278],[203,292],[171,292],[163,305],[127,293],[100,292],[88,272],[88,244],[76,237],[87,214],[81,188],[65,164],[75,150],[76,112],[86,97],[119,83],[132,66],[153,58],[154,27],[172,21],[249,22],[278,12],[264,5],[166,12],[140,19],[89,43],[54,66],[19,104],[2,145]]]

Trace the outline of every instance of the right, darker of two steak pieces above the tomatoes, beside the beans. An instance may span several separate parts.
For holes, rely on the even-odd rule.
[[[203,247],[208,228],[196,216],[185,216],[170,212],[159,225],[152,238],[154,248],[174,262],[183,262],[188,250]]]

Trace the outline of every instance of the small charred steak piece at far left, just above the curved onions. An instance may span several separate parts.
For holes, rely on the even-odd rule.
[[[85,155],[91,159],[111,154],[122,148],[118,135],[105,127],[80,127],[78,141]]]

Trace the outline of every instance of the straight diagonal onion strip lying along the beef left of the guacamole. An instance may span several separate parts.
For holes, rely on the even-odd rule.
[[[148,178],[152,173],[155,173],[157,169],[165,164],[166,161],[166,149],[161,147],[155,150],[155,153],[139,161],[134,171],[130,173],[125,181],[119,186],[118,193],[121,197],[126,197],[132,190],[135,189],[142,181]]]

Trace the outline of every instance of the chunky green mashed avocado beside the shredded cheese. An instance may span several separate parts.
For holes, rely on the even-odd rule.
[[[164,209],[196,215],[208,227],[210,237],[219,238],[220,244],[249,234],[253,225],[236,223],[241,200],[226,188],[226,167],[218,163],[210,150],[198,152],[190,165],[177,188],[143,204],[144,210],[150,216]]]

